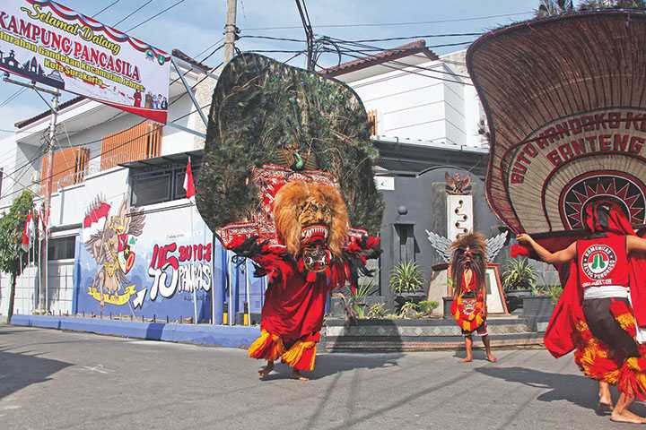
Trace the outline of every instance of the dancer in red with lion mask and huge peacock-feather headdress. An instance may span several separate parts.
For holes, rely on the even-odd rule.
[[[313,369],[329,291],[356,285],[377,255],[376,156],[345,84],[251,54],[224,68],[196,201],[224,247],[268,277],[262,335],[249,348],[267,360],[261,377],[279,358],[299,379]]]

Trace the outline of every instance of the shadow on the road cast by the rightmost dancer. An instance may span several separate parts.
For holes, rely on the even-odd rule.
[[[554,374],[526,367],[495,367],[486,366],[474,369],[476,372],[502,379],[509,383],[522,383],[529,387],[549,391],[537,397],[539,401],[569,401],[581,408],[596,409],[598,402],[597,382],[578,374]],[[616,393],[615,393],[616,400]],[[634,403],[633,412],[645,416],[646,406]]]

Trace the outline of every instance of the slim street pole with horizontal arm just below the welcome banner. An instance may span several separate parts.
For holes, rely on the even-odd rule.
[[[49,119],[49,133],[48,133],[48,142],[45,146],[45,154],[47,157],[47,171],[41,172],[41,175],[46,175],[47,183],[45,185],[45,195],[43,196],[43,214],[47,219],[49,219],[49,207],[51,205],[51,193],[52,185],[54,183],[54,150],[56,142],[56,126],[58,119],[58,99],[60,98],[60,92],[58,90],[49,90],[48,88],[37,87],[36,82],[25,83],[20,81],[15,81],[9,77],[8,73],[4,75],[4,82],[13,83],[21,87],[29,88],[37,92],[46,92],[52,96],[51,116]],[[42,98],[42,96],[40,96]],[[45,101],[45,99],[43,99]],[[48,243],[49,243],[49,232],[48,225],[45,226],[45,237],[40,242],[39,249],[39,305],[38,313],[47,314],[48,312]]]

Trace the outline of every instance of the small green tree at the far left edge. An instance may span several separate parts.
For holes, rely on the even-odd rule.
[[[33,194],[30,191],[23,191],[13,201],[9,211],[0,217],[0,271],[8,273],[11,279],[7,323],[9,323],[13,315],[16,277],[18,276],[18,272],[22,271],[27,265],[27,259],[23,259],[22,261],[20,258],[21,254],[24,254],[20,247],[20,241],[24,222],[32,208]]]

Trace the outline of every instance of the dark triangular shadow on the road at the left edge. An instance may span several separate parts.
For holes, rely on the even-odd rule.
[[[0,399],[34,383],[44,383],[52,374],[73,366],[64,361],[38,357],[26,352],[0,349]]]

